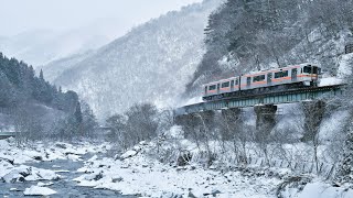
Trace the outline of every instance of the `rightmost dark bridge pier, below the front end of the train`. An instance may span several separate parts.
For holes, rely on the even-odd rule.
[[[325,112],[325,106],[327,103],[322,100],[301,102],[301,108],[304,116],[304,133],[301,141],[315,141],[323,114]]]

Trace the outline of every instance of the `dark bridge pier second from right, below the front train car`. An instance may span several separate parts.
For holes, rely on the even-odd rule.
[[[261,141],[270,134],[276,125],[277,106],[255,106],[254,110],[256,113],[256,139]]]

